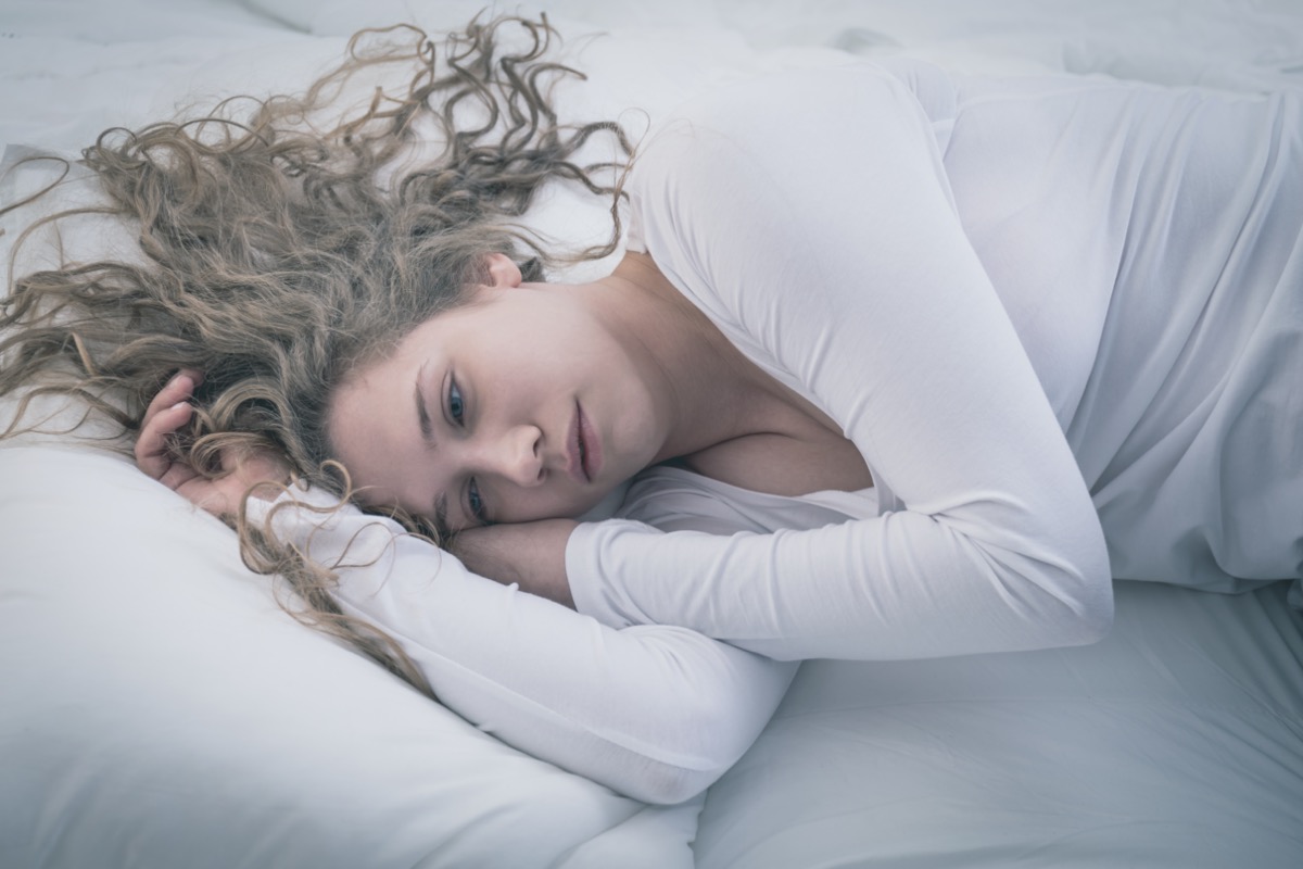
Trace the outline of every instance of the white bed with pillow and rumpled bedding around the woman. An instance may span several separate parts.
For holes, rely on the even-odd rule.
[[[450,29],[481,5],[8,0],[5,165],[293,87],[358,27]],[[592,74],[568,104],[635,124],[730,77],[864,56],[1303,89],[1291,0],[541,8]],[[0,202],[39,173],[7,172]],[[556,199],[536,219],[599,232],[594,207]],[[7,261],[27,218],[0,224]],[[96,233],[81,237],[108,244]],[[731,769],[652,805],[302,628],[224,525],[113,452],[0,442],[0,552],[7,869],[1303,865],[1303,601],[1286,582],[1243,595],[1119,582],[1114,629],[1088,648],[807,662]]]

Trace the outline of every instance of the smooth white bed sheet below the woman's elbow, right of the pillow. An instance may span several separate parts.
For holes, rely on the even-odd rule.
[[[1122,582],[1096,646],[808,662],[697,866],[1303,865],[1303,619]]]

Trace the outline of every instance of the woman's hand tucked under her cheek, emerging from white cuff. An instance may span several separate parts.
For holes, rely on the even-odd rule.
[[[451,550],[480,576],[503,585],[515,582],[523,591],[573,610],[575,598],[566,578],[566,542],[576,525],[572,519],[545,519],[472,528],[452,539]]]

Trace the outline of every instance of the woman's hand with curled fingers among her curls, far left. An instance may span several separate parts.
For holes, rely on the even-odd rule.
[[[222,456],[223,474],[208,479],[189,463],[180,460],[168,444],[169,436],[190,420],[189,399],[203,383],[203,374],[182,370],[150,401],[136,440],[136,465],[172,491],[214,516],[233,516],[250,486],[261,482],[284,483],[288,464],[276,453],[262,449]]]

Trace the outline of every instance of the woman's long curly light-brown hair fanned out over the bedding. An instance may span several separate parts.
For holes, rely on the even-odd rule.
[[[93,211],[133,227],[138,250],[10,276],[0,396],[16,396],[17,413],[0,436],[23,430],[29,403],[53,395],[79,400],[82,422],[106,417],[130,439],[167,379],[199,369],[181,459],[216,474],[224,451],[270,447],[347,498],[326,431],[336,384],[456,306],[485,280],[489,254],[539,280],[547,267],[616,249],[632,149],[615,122],[559,121],[555,85],[582,76],[549,59],[555,40],[546,18],[519,17],[476,20],[442,42],[409,26],[362,31],[301,95],[232,99],[199,117],[102,134],[82,152],[106,194]],[[396,87],[386,83],[395,77]],[[370,98],[341,113],[360,79]],[[598,135],[614,158],[581,163]],[[555,181],[611,199],[605,245],[559,257],[521,225]],[[79,212],[38,221],[16,248]],[[396,519],[434,537],[418,517]],[[268,529],[232,524],[245,563],[289,581],[296,618],[429,693],[390,637],[340,612],[330,565]]]

